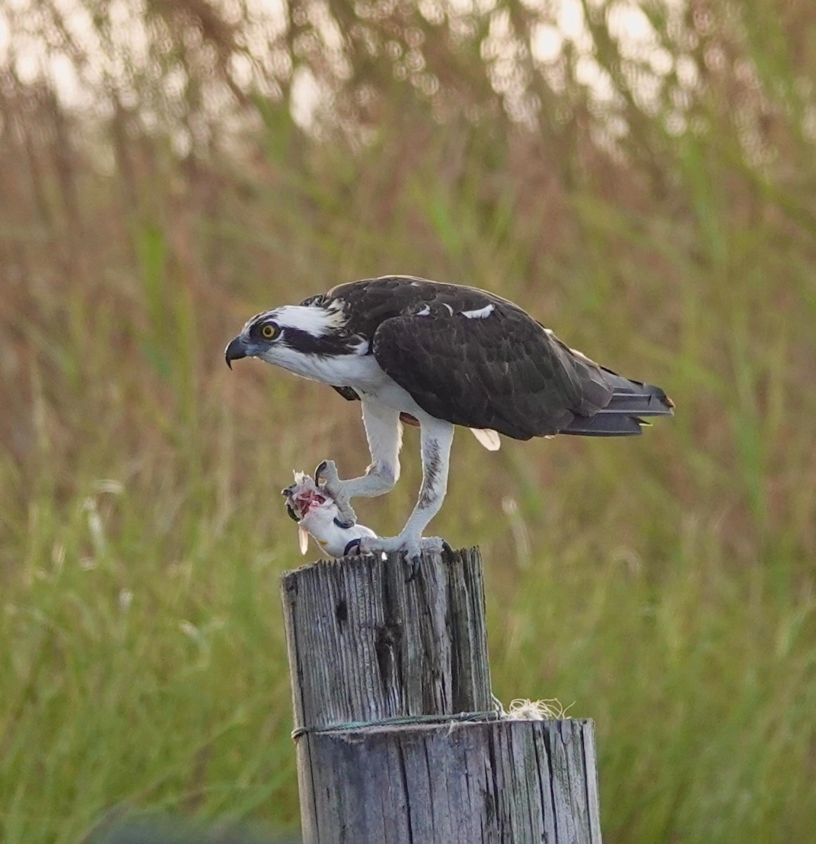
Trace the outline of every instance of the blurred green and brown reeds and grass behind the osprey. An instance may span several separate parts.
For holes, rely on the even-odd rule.
[[[434,525],[496,694],[596,719],[605,841],[816,840],[814,262],[812,0],[2,0],[0,840],[296,828],[279,490],[365,441],[223,349],[392,272],[677,403],[457,437]]]

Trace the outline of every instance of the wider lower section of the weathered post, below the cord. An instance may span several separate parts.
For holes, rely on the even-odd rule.
[[[594,752],[571,718],[310,733],[304,841],[600,844]]]

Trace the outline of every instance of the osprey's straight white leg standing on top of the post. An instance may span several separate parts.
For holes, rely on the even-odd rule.
[[[445,545],[439,537],[423,537],[422,533],[439,512],[445,499],[453,425],[427,415],[419,421],[422,486],[419,488],[417,504],[397,536],[364,538],[360,542],[360,551],[363,553],[405,551],[409,558],[417,560],[422,549],[439,550]]]

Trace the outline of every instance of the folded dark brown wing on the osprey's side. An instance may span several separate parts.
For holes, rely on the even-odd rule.
[[[484,319],[401,314],[381,322],[372,351],[423,410],[518,440],[564,430],[606,406],[599,367],[570,352],[520,308],[491,300]]]

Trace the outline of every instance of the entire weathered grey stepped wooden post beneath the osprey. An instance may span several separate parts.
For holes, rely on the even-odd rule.
[[[478,549],[282,577],[304,844],[600,844],[592,722],[499,716]]]

